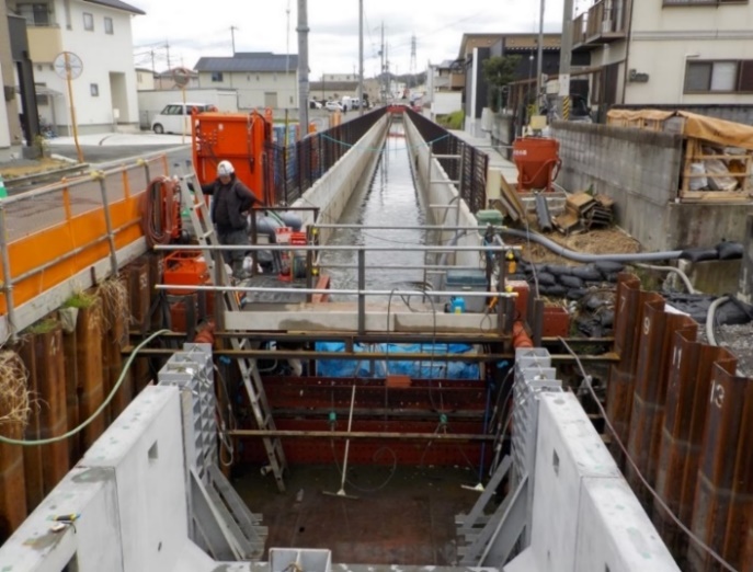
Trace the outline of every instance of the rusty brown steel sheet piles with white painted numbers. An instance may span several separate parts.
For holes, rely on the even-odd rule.
[[[727,350],[696,341],[697,324],[668,311],[654,293],[621,274],[607,414],[636,468],[626,468],[683,570],[718,570],[664,505],[734,569],[753,558],[753,380],[735,377]],[[619,458],[619,455],[617,455]],[[748,562],[748,564],[746,564]]]

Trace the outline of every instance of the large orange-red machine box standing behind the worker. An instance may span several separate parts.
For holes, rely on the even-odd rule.
[[[272,140],[272,123],[261,114],[194,113],[191,122],[193,162],[201,183],[217,176],[217,163],[228,160],[236,175],[264,204],[274,204],[272,190],[264,184],[266,144]]]

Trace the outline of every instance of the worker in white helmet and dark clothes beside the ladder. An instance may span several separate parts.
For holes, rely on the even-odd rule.
[[[230,161],[217,164],[217,179],[202,185],[202,191],[213,195],[212,222],[217,230],[217,239],[225,245],[243,245],[249,242],[249,210],[254,203],[263,203],[236,176],[236,169]],[[223,252],[225,262],[232,268],[235,278],[243,277],[242,250]]]

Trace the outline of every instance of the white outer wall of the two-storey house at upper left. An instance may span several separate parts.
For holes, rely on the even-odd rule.
[[[70,2],[70,21],[66,16],[64,2],[55,3],[55,18],[60,24],[62,49],[72,52],[83,62],[81,76],[71,82],[77,124],[80,133],[112,130],[115,125],[113,108],[119,111],[121,125],[138,124],[136,100],[136,70],[133,62],[132,14],[119,10],[110,10],[93,3]],[[83,13],[90,13],[94,20],[94,30],[83,28]],[[105,34],[104,19],[113,19],[113,34]],[[68,89],[66,81],[50,69],[49,65],[35,68],[35,81],[45,83],[60,95],[52,98],[55,104],[55,118],[62,133],[67,133],[70,122]],[[42,69],[39,69],[42,68]],[[113,92],[111,73],[122,75],[123,91]],[[117,81],[116,81],[117,83]],[[92,95],[92,84],[96,84],[99,95]],[[39,108],[41,115],[52,122],[49,106]]]

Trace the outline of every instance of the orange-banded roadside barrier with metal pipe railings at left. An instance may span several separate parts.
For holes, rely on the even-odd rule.
[[[106,274],[117,273],[117,251],[144,238],[147,184],[167,173],[162,155],[0,199],[3,338],[15,340],[44,316],[49,307],[44,300],[35,301],[38,312],[18,316],[19,307],[32,299],[64,283],[83,282],[80,274],[103,260],[110,265]]]

